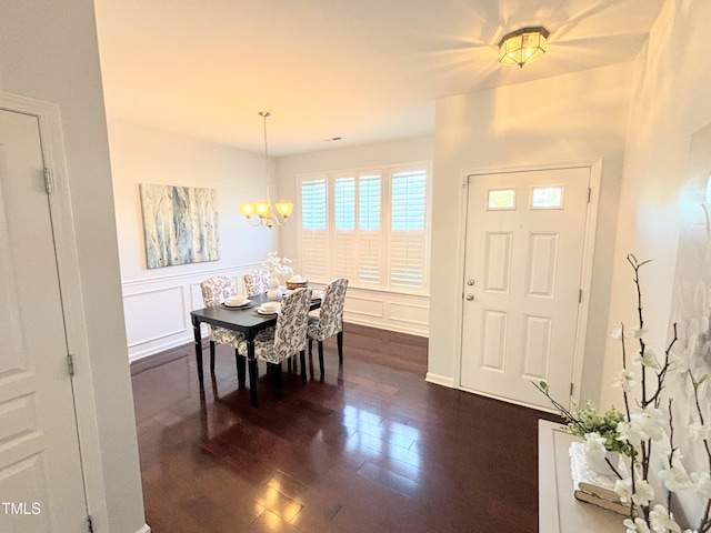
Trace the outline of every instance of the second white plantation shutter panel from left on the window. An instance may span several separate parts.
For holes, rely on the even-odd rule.
[[[356,253],[356,178],[336,178],[333,182],[333,271],[332,278],[353,280],[358,272]]]

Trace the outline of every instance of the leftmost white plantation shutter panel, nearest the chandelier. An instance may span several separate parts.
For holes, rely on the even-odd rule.
[[[301,274],[328,280],[328,204],[326,177],[301,181]]]

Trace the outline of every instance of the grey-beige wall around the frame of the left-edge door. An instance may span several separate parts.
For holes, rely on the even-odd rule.
[[[96,418],[89,425],[98,449],[84,453],[100,470],[86,473],[90,512],[101,531],[136,532],[144,526],[143,499],[93,2],[3,1],[0,89],[61,110],[84,310],[69,319],[86,321],[88,354],[78,372],[91,372],[92,385],[78,402]]]

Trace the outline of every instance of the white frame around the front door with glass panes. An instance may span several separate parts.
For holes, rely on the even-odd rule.
[[[582,382],[582,369],[583,369],[583,359],[584,359],[584,350],[585,350],[585,338],[588,331],[588,314],[590,311],[590,286],[592,283],[592,263],[594,258],[594,243],[595,243],[595,233],[598,229],[598,207],[600,202],[600,181],[602,177],[602,160],[583,160],[583,161],[569,161],[569,162],[559,162],[559,163],[550,163],[550,164],[534,164],[534,165],[521,165],[521,167],[489,167],[473,170],[463,170],[460,175],[460,192],[459,192],[459,247],[457,250],[457,257],[454,260],[457,261],[457,280],[460,283],[461,288],[461,298],[457,300],[457,338],[454,340],[454,361],[453,361],[453,375],[452,381],[457,389],[462,389],[462,376],[461,376],[461,363],[462,363],[462,328],[463,328],[463,299],[464,299],[464,257],[465,257],[465,247],[467,247],[467,222],[468,222],[468,211],[467,211],[467,198],[469,195],[469,178],[478,177],[484,174],[502,174],[508,172],[528,172],[528,171],[537,171],[537,170],[560,170],[560,169],[571,169],[571,168],[587,168],[590,169],[590,204],[588,208],[588,213],[585,217],[585,237],[583,243],[583,258],[582,258],[582,275],[581,275],[581,289],[582,289],[582,298],[580,302],[580,309],[578,313],[578,335],[575,338],[575,349],[573,353],[573,372],[572,372],[572,383],[573,383],[573,394],[570,399],[574,402],[580,403],[580,392],[581,392],[581,382]],[[481,393],[480,393],[481,394]],[[485,395],[485,394],[482,394]],[[540,406],[529,405],[525,403],[514,402],[512,400],[510,403],[519,403],[527,408],[532,408],[537,410],[541,410]],[[551,413],[555,413],[557,411],[553,409],[545,410]]]

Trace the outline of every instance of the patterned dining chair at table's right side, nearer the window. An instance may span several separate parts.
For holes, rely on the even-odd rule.
[[[343,364],[343,302],[347,289],[348,280],[346,278],[337,278],[331,281],[323,289],[319,316],[309,316],[309,329],[307,331],[309,358],[311,358],[312,343],[317,341],[319,343],[321,376],[323,376],[323,341],[329,336],[337,335],[338,360],[339,364]]]

